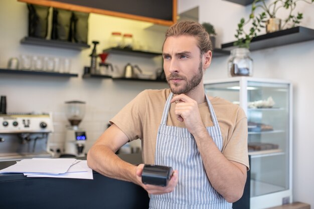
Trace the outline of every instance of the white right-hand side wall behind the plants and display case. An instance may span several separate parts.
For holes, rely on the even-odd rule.
[[[199,21],[210,22],[217,29],[217,45],[235,40],[237,24],[242,17],[248,17],[251,9],[227,1],[179,0],[179,13],[196,6],[200,6]],[[300,25],[314,29],[314,5],[299,1],[296,11],[303,13]],[[314,40],[254,51],[251,57],[254,60],[253,77],[284,79],[293,84],[293,201],[306,202],[313,207]],[[213,58],[205,79],[226,78],[227,61],[228,57]]]

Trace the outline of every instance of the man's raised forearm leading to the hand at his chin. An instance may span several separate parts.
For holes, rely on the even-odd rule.
[[[206,128],[194,135],[212,186],[229,202],[242,196],[246,172],[229,161],[217,148]]]

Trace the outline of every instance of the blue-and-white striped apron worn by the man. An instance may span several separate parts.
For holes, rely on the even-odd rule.
[[[206,96],[206,95],[205,95]],[[155,209],[230,209],[227,202],[209,182],[193,135],[187,128],[167,126],[170,93],[159,126],[155,164],[171,166],[179,171],[179,182],[173,192],[151,194],[149,208]],[[214,109],[206,96],[214,126],[206,127],[219,150],[222,136]]]

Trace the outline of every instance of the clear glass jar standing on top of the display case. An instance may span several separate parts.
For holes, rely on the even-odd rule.
[[[231,50],[228,71],[232,77],[252,76],[253,60],[250,58],[250,51],[247,48],[235,48]]]

